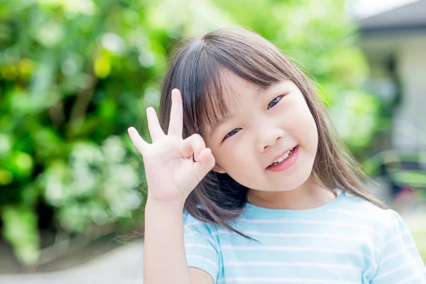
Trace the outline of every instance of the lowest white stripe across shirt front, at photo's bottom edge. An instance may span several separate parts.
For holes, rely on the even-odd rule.
[[[359,284],[342,280],[324,280],[310,278],[268,278],[268,277],[229,277],[222,278],[217,283],[336,283],[336,284]]]

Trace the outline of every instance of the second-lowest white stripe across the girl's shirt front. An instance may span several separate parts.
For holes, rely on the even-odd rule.
[[[224,263],[226,266],[297,266],[297,267],[316,267],[316,268],[338,268],[362,270],[359,266],[344,266],[340,264],[328,263],[309,263],[309,262],[283,262],[283,261],[229,261]]]

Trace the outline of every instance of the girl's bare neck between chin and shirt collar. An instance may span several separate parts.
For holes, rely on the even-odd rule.
[[[336,195],[313,175],[293,190],[267,192],[249,190],[247,200],[258,207],[270,209],[312,209],[332,202]]]

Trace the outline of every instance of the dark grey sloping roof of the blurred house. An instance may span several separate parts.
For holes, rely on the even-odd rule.
[[[405,6],[378,13],[359,21],[364,35],[426,31],[426,0],[418,0]]]

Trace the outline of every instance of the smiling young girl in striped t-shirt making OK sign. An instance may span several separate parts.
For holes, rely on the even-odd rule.
[[[405,224],[357,178],[307,77],[260,35],[191,38],[148,144],[144,283],[426,283]]]

